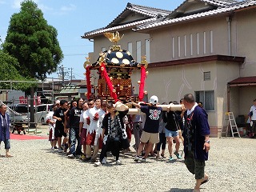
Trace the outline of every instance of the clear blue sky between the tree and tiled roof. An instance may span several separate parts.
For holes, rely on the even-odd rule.
[[[2,41],[6,37],[10,17],[20,11],[22,0],[0,0],[0,36]],[[64,59],[60,66],[71,72],[75,79],[84,79],[83,63],[89,52],[93,52],[93,43],[81,36],[90,30],[96,30],[109,24],[122,13],[127,2],[174,10],[183,0],[34,0],[42,10],[49,25],[58,30]],[[94,62],[94,61],[90,61]],[[57,74],[48,75],[57,78]]]

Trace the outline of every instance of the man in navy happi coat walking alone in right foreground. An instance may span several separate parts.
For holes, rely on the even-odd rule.
[[[183,104],[186,107],[184,114],[185,127],[182,133],[184,138],[185,165],[190,173],[195,175],[195,192],[200,191],[200,186],[208,182],[205,174],[205,161],[208,160],[210,150],[210,126],[208,114],[194,100],[193,94],[185,94]]]

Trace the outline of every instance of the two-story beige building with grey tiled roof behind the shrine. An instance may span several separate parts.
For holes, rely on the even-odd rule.
[[[165,15],[141,18],[135,24],[132,15],[142,13],[136,12],[137,7],[150,12],[148,7],[128,4],[113,27],[83,36],[94,38],[94,54],[110,46],[103,40],[105,31],[129,34],[120,45],[127,50],[136,45],[130,53],[138,62],[141,55],[147,56],[149,96],[156,94],[159,102],[169,102],[194,94],[209,114],[211,136],[221,130],[226,111],[233,111],[235,117],[248,114],[256,98],[256,1],[186,0],[169,13],[159,10]],[[130,23],[134,26],[128,28]],[[145,50],[138,50],[139,45]],[[136,85],[139,71],[132,79]],[[134,92],[138,93],[138,86]]]

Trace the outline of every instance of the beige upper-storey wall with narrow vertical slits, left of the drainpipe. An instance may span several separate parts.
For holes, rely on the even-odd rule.
[[[213,51],[210,49],[210,31],[213,34]],[[206,52],[204,53],[204,32],[206,34]],[[193,55],[190,51],[190,34],[192,34]],[[197,34],[198,39],[197,40]],[[186,56],[185,56],[186,35]],[[180,57],[178,57],[178,37],[180,38]],[[228,55],[228,33],[226,17],[202,19],[196,22],[183,22],[181,24],[150,32],[150,55],[151,62],[164,62],[182,58],[203,57],[206,55]],[[173,40],[174,38],[174,57]],[[197,43],[199,42],[199,46]],[[199,54],[198,54],[199,47]]]

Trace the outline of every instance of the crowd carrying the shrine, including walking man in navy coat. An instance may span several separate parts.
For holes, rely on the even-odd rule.
[[[53,118],[48,120],[51,148],[58,149],[60,153],[66,152],[68,158],[94,162],[94,166],[105,164],[107,152],[111,151],[116,165],[121,165],[120,151],[130,151],[132,134],[136,151],[134,162],[146,162],[149,155],[166,158],[166,143],[169,161],[174,161],[174,157],[181,159],[182,141],[186,167],[195,174],[194,191],[200,191],[200,186],[209,180],[204,170],[210,150],[206,111],[198,106],[192,94],[186,94],[180,103],[170,103],[182,104],[181,110],[173,111],[167,107],[163,111],[155,95],[150,98],[150,103],[128,103],[139,109],[139,114],[128,114],[128,105],[121,102],[106,102],[100,98],[56,101]],[[123,106],[122,110],[118,105]]]

